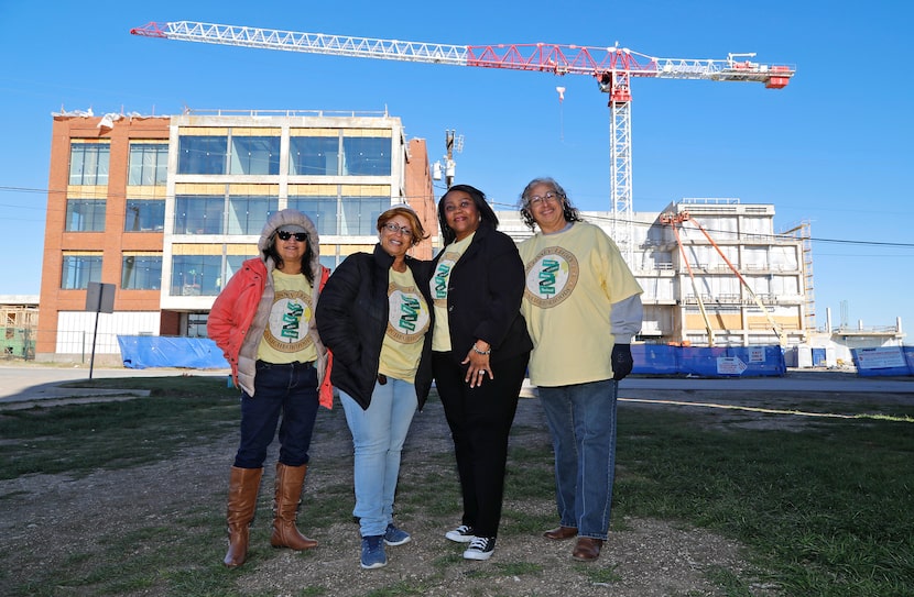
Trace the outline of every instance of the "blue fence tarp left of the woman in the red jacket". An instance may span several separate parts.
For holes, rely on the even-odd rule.
[[[227,369],[222,351],[208,338],[164,335],[119,335],[123,366],[185,367],[188,369]]]

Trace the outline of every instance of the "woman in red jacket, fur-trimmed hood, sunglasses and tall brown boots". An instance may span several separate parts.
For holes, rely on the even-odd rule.
[[[318,261],[317,230],[307,215],[285,209],[270,215],[248,259],[216,298],[207,331],[241,388],[241,441],[228,496],[228,567],[248,553],[266,449],[279,425],[275,518],[270,543],[306,550],[317,542],[295,528],[314,421],[333,399],[329,356],[314,322],[319,288],[329,270]],[[324,383],[326,379],[326,384]],[[282,423],[280,424],[280,416]]]

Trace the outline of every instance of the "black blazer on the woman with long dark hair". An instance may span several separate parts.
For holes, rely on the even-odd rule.
[[[435,257],[434,266],[443,254]],[[521,316],[523,294],[524,264],[518,245],[483,221],[450,272],[447,322],[455,363],[466,358],[477,340],[491,344],[492,364],[533,350]]]

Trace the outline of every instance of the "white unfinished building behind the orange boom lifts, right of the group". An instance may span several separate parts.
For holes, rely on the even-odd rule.
[[[520,241],[531,231],[500,212]],[[611,212],[583,217],[612,235]],[[683,199],[634,212],[629,265],[644,289],[644,342],[796,346],[815,329],[808,226],[774,231],[774,206]]]

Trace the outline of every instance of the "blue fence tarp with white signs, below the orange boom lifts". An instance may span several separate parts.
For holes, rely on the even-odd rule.
[[[781,377],[787,372],[780,346],[668,346],[632,344],[634,369],[644,375]]]

